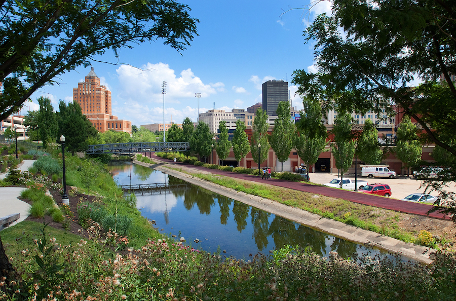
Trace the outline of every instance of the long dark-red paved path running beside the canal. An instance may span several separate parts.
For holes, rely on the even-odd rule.
[[[155,154],[151,155],[151,159],[161,160],[163,162],[167,162],[168,164],[174,164],[173,160],[163,159],[161,157],[155,156]],[[422,203],[414,203],[414,202],[407,202],[401,201],[393,198],[385,198],[379,197],[370,194],[364,193],[357,193],[347,190],[341,189],[334,189],[327,186],[319,186],[319,185],[312,185],[306,183],[299,183],[299,182],[292,182],[287,180],[280,180],[280,179],[271,179],[271,180],[262,180],[259,176],[254,176],[250,174],[241,174],[231,171],[222,171],[218,169],[209,169],[202,166],[196,166],[191,164],[185,164],[182,162],[176,162],[176,165],[185,165],[186,168],[194,169],[195,171],[201,170],[205,172],[210,172],[213,174],[219,174],[224,176],[229,176],[232,178],[243,179],[248,181],[260,182],[260,183],[267,183],[270,185],[276,185],[280,187],[285,187],[289,189],[294,189],[297,191],[313,193],[317,195],[332,197],[343,199],[359,204],[379,207],[390,209],[398,212],[404,213],[411,213],[423,216],[429,216],[433,218],[440,218],[440,219],[449,219],[449,217],[443,215],[442,213],[432,212],[428,214],[428,211],[433,208],[434,206]]]

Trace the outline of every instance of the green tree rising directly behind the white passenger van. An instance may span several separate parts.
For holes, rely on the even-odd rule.
[[[382,162],[383,152],[378,143],[378,131],[370,119],[366,120],[363,132],[358,138],[356,155],[367,165],[377,165]]]

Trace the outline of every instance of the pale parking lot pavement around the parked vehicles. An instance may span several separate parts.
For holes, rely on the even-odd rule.
[[[317,183],[317,184],[324,184],[328,183],[332,179],[335,178],[340,178],[340,174],[337,176],[336,173],[326,173],[326,172],[316,172],[316,173],[309,173],[311,182]],[[344,178],[350,178],[352,180],[355,179],[354,174],[344,174]],[[369,184],[371,183],[384,183],[388,184],[391,187],[391,197],[395,199],[403,199],[409,194],[413,193],[423,193],[425,191],[426,187],[421,187],[420,184],[423,182],[421,180],[415,180],[415,179],[410,179],[404,176],[399,176],[395,179],[390,179],[390,178],[365,178],[358,176],[357,179],[367,181]],[[449,183],[449,187],[446,189],[447,191],[450,192],[455,192],[456,193],[456,183],[451,182]],[[429,192],[428,192],[429,193]],[[433,196],[437,196],[438,193],[431,192],[430,193]]]

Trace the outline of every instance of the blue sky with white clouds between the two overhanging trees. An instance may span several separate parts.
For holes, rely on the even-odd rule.
[[[112,94],[112,114],[133,125],[163,123],[161,85],[167,82],[165,122],[197,120],[197,111],[245,108],[261,102],[261,84],[288,80],[296,69],[312,70],[312,45],[302,32],[316,14],[330,11],[323,1],[308,11],[309,2],[284,1],[180,1],[198,18],[198,34],[182,55],[162,41],[122,49],[117,59],[108,50],[93,61],[101,83]],[[142,69],[142,70],[141,70]],[[72,101],[72,89],[84,81],[90,67],[78,67],[60,76],[60,85],[45,86],[26,102],[21,114],[39,108],[36,99]],[[292,105],[302,108],[296,87],[289,84]],[[201,98],[195,93],[201,93]]]

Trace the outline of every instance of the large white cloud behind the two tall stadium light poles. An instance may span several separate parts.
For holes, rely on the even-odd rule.
[[[137,126],[163,123],[163,101],[165,123],[171,120],[181,123],[185,117],[196,122],[197,107],[200,106],[200,113],[206,111],[201,107],[203,99],[224,89],[220,82],[204,84],[192,69],[185,69],[176,76],[168,64],[161,62],[147,63],[142,70],[122,65],[116,71],[119,84],[116,87],[118,94],[112,95],[112,114],[121,115]],[[166,82],[165,95],[161,93],[163,81]],[[201,98],[195,98],[196,92],[201,93]],[[181,104],[188,105],[183,107]]]

